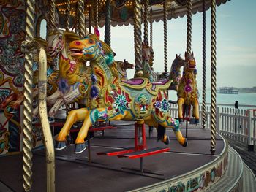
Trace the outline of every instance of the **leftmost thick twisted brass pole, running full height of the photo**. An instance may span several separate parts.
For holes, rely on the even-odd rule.
[[[26,1],[26,41],[23,46],[34,40],[34,0]],[[24,118],[23,118],[23,188],[31,191],[32,186],[32,85],[33,85],[33,53],[25,53],[25,82],[24,82]]]

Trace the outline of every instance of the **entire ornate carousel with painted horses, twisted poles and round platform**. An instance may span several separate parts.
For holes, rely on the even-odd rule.
[[[2,1],[0,191],[243,191],[241,158],[217,133],[216,7],[226,1]],[[192,14],[200,12],[202,104],[192,51]],[[187,49],[168,71],[167,22],[184,16]],[[162,64],[154,62],[153,27],[159,20],[164,71],[157,73],[154,66]],[[134,28],[134,53],[127,53],[134,64],[116,61],[111,48],[111,28],[124,25]]]

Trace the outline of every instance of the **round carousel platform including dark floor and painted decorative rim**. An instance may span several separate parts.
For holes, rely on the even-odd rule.
[[[196,126],[188,130],[182,147],[167,130],[170,144],[157,142],[154,131],[148,149],[170,147],[165,153],[143,158],[97,155],[134,146],[134,125],[111,122],[116,128],[94,133],[88,151],[74,154],[74,145],[56,151],[56,191],[256,191],[255,176],[227,141],[217,135],[215,155],[210,152],[210,130]],[[185,134],[185,128],[181,128]],[[22,155],[0,157],[0,191],[23,191]],[[46,191],[45,150],[33,153],[33,191]]]

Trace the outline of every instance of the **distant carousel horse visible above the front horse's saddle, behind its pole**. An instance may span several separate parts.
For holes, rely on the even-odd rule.
[[[152,67],[153,58],[152,58],[153,50],[152,47],[148,45],[148,42],[143,41],[142,43],[142,66],[143,66],[143,77],[148,78],[150,82],[157,81],[157,74],[154,72]]]

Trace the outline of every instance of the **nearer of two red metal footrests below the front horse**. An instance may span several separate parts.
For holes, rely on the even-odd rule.
[[[160,148],[160,147],[156,147],[156,148],[151,148],[148,150],[138,150],[132,153],[126,153],[126,154],[121,154],[121,155],[117,155],[118,158],[142,158],[142,157],[146,157],[149,155],[155,155],[158,153],[164,153],[169,151],[170,148]]]

